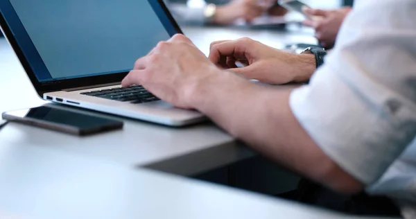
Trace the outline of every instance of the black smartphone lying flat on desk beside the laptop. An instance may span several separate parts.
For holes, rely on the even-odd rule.
[[[123,128],[123,121],[48,106],[4,112],[2,117],[8,121],[80,136]]]

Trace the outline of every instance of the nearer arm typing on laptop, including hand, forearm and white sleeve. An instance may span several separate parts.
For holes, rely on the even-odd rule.
[[[141,84],[177,107],[204,112],[306,177],[359,191],[379,179],[416,135],[416,13],[413,0],[368,0],[356,7],[327,64],[310,85],[293,91],[221,71],[183,35],[137,60],[122,83]],[[222,64],[227,56],[220,53]]]

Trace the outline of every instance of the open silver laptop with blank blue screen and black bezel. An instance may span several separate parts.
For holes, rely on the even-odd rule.
[[[205,120],[121,87],[138,58],[182,33],[163,0],[0,0],[0,26],[44,100],[169,126]]]

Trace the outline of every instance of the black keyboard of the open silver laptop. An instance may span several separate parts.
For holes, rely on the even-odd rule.
[[[121,102],[130,102],[132,104],[148,103],[160,100],[153,94],[150,94],[150,92],[144,89],[144,87],[141,87],[141,85],[133,85],[132,87],[103,89],[100,91],[91,91],[81,94]]]

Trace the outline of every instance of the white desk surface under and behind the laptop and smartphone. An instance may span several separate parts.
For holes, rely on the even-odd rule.
[[[240,37],[252,37],[275,47],[286,43],[315,41],[310,33],[298,30],[283,33],[266,30],[184,28],[184,33],[205,53],[209,51],[209,44],[214,40],[234,40]],[[35,93],[6,40],[0,40],[0,69],[0,112],[46,103]],[[232,137],[209,123],[173,129],[124,120],[123,131],[85,138],[10,123],[0,131],[0,144],[36,146],[181,175],[200,173],[252,156],[252,152],[237,146]]]

